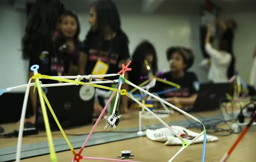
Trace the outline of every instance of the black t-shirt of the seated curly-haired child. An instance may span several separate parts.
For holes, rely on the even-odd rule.
[[[171,81],[175,84],[181,86],[180,89],[177,89],[173,92],[168,92],[165,94],[161,94],[162,98],[169,97],[190,97],[191,95],[197,93],[198,91],[198,79],[193,72],[185,72],[182,78],[174,78],[171,75],[171,72],[167,72],[161,76],[162,79],[166,79],[167,81]],[[155,87],[152,88],[153,92],[161,92],[168,89],[174,88],[171,85],[162,83],[160,81],[156,81]]]

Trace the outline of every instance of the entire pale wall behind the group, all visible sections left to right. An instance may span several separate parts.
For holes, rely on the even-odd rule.
[[[71,3],[71,1],[70,1]],[[130,53],[143,39],[151,41],[157,50],[159,69],[169,69],[165,51],[172,45],[190,47],[195,53],[195,71],[200,81],[207,80],[207,72],[199,67],[202,60],[199,42],[199,5],[188,1],[164,4],[154,14],[141,14],[141,5],[133,1],[116,1],[121,12],[122,28],[130,39]],[[167,1],[170,3],[170,1]],[[69,6],[69,5],[66,5]],[[81,40],[88,29],[88,10],[84,5],[75,10],[81,20]],[[183,7],[183,8],[182,8]],[[20,40],[26,24],[25,12],[0,6],[0,88],[13,87],[27,83],[27,62],[21,59]],[[251,68],[252,52],[256,44],[256,12],[225,14],[224,18],[233,18],[239,28],[236,32],[234,50],[237,57],[237,69],[247,82]]]

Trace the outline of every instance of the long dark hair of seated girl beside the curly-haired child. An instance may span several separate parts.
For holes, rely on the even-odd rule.
[[[132,68],[132,70],[129,71],[129,80],[133,79],[136,82],[136,80],[140,80],[141,75],[144,75],[141,74],[141,66],[144,65],[144,61],[148,54],[153,55],[154,57],[150,68],[153,72],[153,75],[156,74],[158,67],[155,47],[153,44],[145,40],[142,41],[134,50],[131,59],[132,62],[130,64],[130,68]]]

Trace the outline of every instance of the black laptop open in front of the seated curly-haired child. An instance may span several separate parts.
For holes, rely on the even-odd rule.
[[[200,84],[195,104],[191,112],[216,110],[219,108],[219,100],[226,97],[226,93],[232,92],[231,83],[203,83]]]

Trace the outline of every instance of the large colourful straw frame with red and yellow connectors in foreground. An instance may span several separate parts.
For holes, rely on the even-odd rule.
[[[129,62],[130,63],[130,62]],[[126,71],[131,70],[130,68],[128,68],[128,65],[125,66],[124,64],[122,64],[122,70],[118,73],[118,74],[108,74],[108,75],[78,75],[78,76],[48,76],[48,75],[41,75],[37,72],[37,70],[39,69],[38,65],[34,65],[31,67],[31,70],[34,71],[34,76],[31,79],[35,79],[36,82],[35,83],[31,83],[31,79],[29,80],[28,84],[26,85],[21,85],[21,86],[16,86],[16,87],[10,87],[10,88],[6,88],[4,90],[1,90],[0,93],[6,93],[6,92],[10,92],[16,89],[20,89],[20,88],[25,88],[26,89],[26,94],[25,94],[25,98],[24,98],[24,103],[23,103],[23,107],[22,107],[22,113],[21,113],[21,120],[20,120],[20,130],[19,130],[19,137],[18,137],[18,143],[17,143],[17,153],[16,153],[16,162],[20,162],[20,152],[21,152],[21,145],[22,145],[22,132],[24,129],[24,120],[25,120],[25,113],[26,113],[26,106],[27,106],[27,99],[28,99],[28,94],[29,94],[29,89],[31,86],[36,86],[38,89],[38,93],[39,93],[39,97],[40,97],[40,103],[41,103],[41,107],[42,107],[42,112],[43,112],[43,117],[44,117],[44,122],[45,122],[45,126],[46,126],[46,132],[47,132],[47,140],[48,140],[48,145],[49,145],[49,151],[50,151],[50,159],[51,162],[57,162],[57,156],[54,150],[54,143],[53,143],[53,138],[52,138],[52,134],[51,134],[51,130],[50,130],[50,126],[49,126],[49,121],[48,121],[48,117],[47,117],[47,110],[46,110],[46,106],[45,103],[47,104],[50,112],[52,113],[55,122],[57,123],[64,139],[66,140],[70,150],[72,151],[74,158],[72,159],[72,162],[80,162],[80,160],[82,159],[88,159],[88,160],[99,160],[99,161],[112,161],[112,162],[131,162],[128,160],[119,160],[119,159],[108,159],[108,158],[99,158],[99,157],[88,157],[88,156],[81,156],[81,153],[84,149],[84,147],[86,146],[86,144],[88,143],[88,140],[90,139],[90,137],[92,136],[96,126],[98,125],[100,119],[102,118],[104,112],[106,111],[110,101],[113,99],[114,95],[116,92],[118,92],[118,94],[120,95],[127,95],[129,98],[131,98],[132,100],[134,100],[136,103],[138,103],[142,108],[144,108],[146,111],[148,111],[149,113],[152,114],[152,116],[154,116],[156,119],[158,119],[166,128],[168,128],[168,130],[170,130],[173,134],[175,134],[176,137],[178,137],[183,145],[182,148],[168,161],[168,162],[172,162],[176,156],[178,156],[182,150],[184,150],[185,148],[187,148],[191,143],[194,143],[196,139],[198,139],[199,137],[201,137],[204,134],[204,142],[203,142],[203,151],[202,151],[202,162],[204,162],[204,157],[205,157],[205,149],[206,149],[206,130],[204,125],[202,124],[202,122],[200,120],[198,120],[197,118],[195,118],[194,116],[190,115],[187,112],[184,112],[183,110],[179,109],[178,107],[168,103],[165,100],[162,100],[161,98],[159,98],[157,95],[154,95],[152,93],[149,93],[148,91],[142,89],[141,87],[136,86],[135,84],[131,83],[130,81],[126,80],[123,75],[125,74]],[[122,75],[119,75],[122,74]],[[97,84],[102,84],[102,83],[112,83],[112,81],[90,81],[92,78],[99,78],[99,77],[109,77],[109,76],[119,76],[118,80],[118,84],[115,88],[111,88],[111,87],[106,87],[106,86],[101,86],[101,85],[97,85]],[[86,78],[89,80],[88,83],[85,82],[81,82],[81,79]],[[40,79],[50,79],[50,80],[55,80],[55,81],[61,81],[63,83],[56,83],[56,84],[47,84],[47,85],[43,85],[40,83]],[[71,80],[71,79],[76,79]],[[162,80],[160,80],[162,81]],[[187,115],[189,118],[194,119],[195,121],[201,123],[203,125],[203,131],[196,136],[193,140],[191,140],[189,143],[186,142],[182,137],[180,137],[169,125],[167,125],[161,118],[159,118],[154,112],[152,112],[151,110],[148,109],[147,106],[143,105],[139,100],[136,100],[134,98],[133,95],[131,95],[130,93],[127,93],[127,91],[125,89],[121,89],[121,85],[126,82],[127,84],[135,87],[136,89],[139,89],[140,91],[142,91],[143,93],[146,93],[147,95],[149,95],[150,97],[155,98],[156,100],[159,100],[160,102],[162,102],[163,104],[166,104],[170,107],[172,107],[173,109],[183,113],[184,115]],[[173,83],[172,83],[173,84]],[[85,142],[83,143],[83,145],[81,146],[80,150],[78,152],[76,152],[74,150],[74,148],[72,147],[72,144],[69,142],[65,132],[63,131],[54,111],[53,108],[51,107],[49,101],[47,100],[47,96],[45,95],[45,93],[42,90],[42,87],[54,87],[54,86],[67,86],[67,85],[86,85],[86,86],[92,86],[92,87],[98,87],[98,88],[104,88],[104,89],[108,89],[113,91],[111,97],[109,98],[106,106],[104,107],[103,111],[101,112],[101,115],[99,116],[99,118],[97,119],[95,125],[93,126],[92,130],[90,131],[87,139],[85,140]],[[118,95],[117,95],[118,96]],[[115,104],[116,106],[116,104]],[[116,108],[114,106],[114,109]],[[109,116],[110,117],[110,116]],[[109,118],[108,117],[108,118]],[[115,129],[115,128],[114,128]],[[136,161],[132,161],[132,162],[136,162]]]

